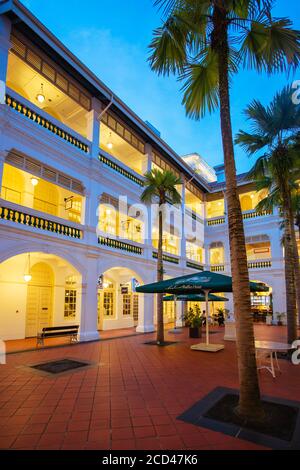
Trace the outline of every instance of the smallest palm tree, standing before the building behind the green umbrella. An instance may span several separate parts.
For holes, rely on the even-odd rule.
[[[157,250],[157,281],[163,281],[163,213],[169,204],[180,204],[181,196],[176,186],[182,184],[172,171],[152,169],[145,174],[145,189],[141,195],[144,203],[158,203],[158,250]],[[163,294],[157,294],[157,344],[164,343]]]

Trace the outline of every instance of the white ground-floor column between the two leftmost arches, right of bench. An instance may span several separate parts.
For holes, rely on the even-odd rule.
[[[97,256],[88,254],[86,275],[82,284],[80,341],[99,339],[97,330],[97,277]]]

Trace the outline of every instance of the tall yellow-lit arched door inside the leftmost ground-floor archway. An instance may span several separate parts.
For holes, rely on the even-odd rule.
[[[52,325],[54,274],[51,267],[40,262],[30,270],[27,287],[25,336],[37,336],[44,327]]]

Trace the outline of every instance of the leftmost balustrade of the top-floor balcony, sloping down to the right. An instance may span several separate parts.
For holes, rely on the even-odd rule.
[[[9,108],[23,116],[24,119],[33,122],[34,125],[42,127],[49,133],[57,136],[70,146],[75,147],[85,154],[89,153],[90,142],[87,139],[77,134],[75,131],[72,131],[62,122],[50,116],[13,90],[9,88],[7,88],[7,90],[8,93],[6,94],[5,102]]]

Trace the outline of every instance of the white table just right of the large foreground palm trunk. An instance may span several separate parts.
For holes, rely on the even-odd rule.
[[[277,353],[278,352],[286,352],[293,349],[290,344],[287,343],[276,343],[274,341],[255,341],[255,349],[256,349],[256,359],[257,359],[257,369],[267,369],[271,374],[272,377],[276,378],[276,369],[281,372]],[[266,354],[268,353],[270,360],[269,363],[263,364],[262,360],[266,359]]]

